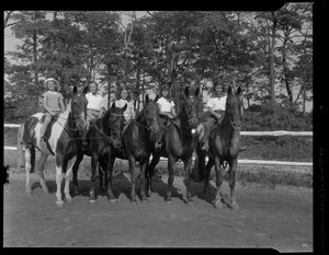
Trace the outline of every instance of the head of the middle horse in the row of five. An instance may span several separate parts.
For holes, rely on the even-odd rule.
[[[144,115],[146,118],[147,128],[152,132],[158,132],[160,130],[159,124],[159,105],[157,104],[158,95],[155,100],[150,100],[148,94],[145,97]]]

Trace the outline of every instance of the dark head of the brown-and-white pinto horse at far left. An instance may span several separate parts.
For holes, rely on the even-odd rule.
[[[87,104],[88,100],[84,96],[84,93],[78,92],[77,86],[73,88],[73,96],[71,100],[71,112],[79,130],[86,128],[86,117],[87,117]]]

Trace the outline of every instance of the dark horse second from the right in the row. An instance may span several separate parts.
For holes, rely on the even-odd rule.
[[[191,164],[192,153],[194,151],[194,141],[192,129],[195,129],[198,121],[198,105],[201,100],[198,97],[200,88],[191,92],[189,86],[184,89],[184,101],[180,112],[178,113],[177,119],[180,123],[181,128],[177,127],[173,121],[169,120],[168,126],[164,129],[164,146],[158,151],[152,148],[152,160],[149,164],[147,175],[147,192],[149,195],[152,192],[151,177],[155,173],[155,167],[159,163],[160,157],[168,158],[168,192],[167,199],[168,204],[171,204],[171,189],[173,183],[173,167],[178,159],[184,162],[185,172],[185,185],[186,185],[186,201],[192,204],[192,195],[190,192],[191,184]]]

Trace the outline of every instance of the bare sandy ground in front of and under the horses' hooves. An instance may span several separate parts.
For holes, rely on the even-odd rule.
[[[129,202],[131,185],[114,178],[118,202],[99,194],[88,202],[89,176],[79,176],[81,195],[63,208],[55,205],[55,175],[46,173],[50,194],[32,174],[33,195],[25,190],[25,175],[13,173],[10,193],[3,188],[4,247],[273,247],[280,252],[313,251],[313,190],[254,184],[236,186],[238,210],[214,208],[192,183],[192,206],[184,202],[182,177],[175,177],[173,204],[164,201],[167,177],[155,183],[148,204]],[[212,183],[214,185],[214,183]],[[223,184],[228,202],[229,187]],[[137,189],[139,194],[139,188]],[[213,196],[215,188],[212,189]]]

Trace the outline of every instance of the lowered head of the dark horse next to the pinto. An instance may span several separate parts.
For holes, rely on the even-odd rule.
[[[125,123],[124,112],[127,108],[127,104],[120,108],[115,106],[115,102],[111,106],[110,115],[110,130],[111,130],[111,140],[114,148],[122,147],[122,131]]]

